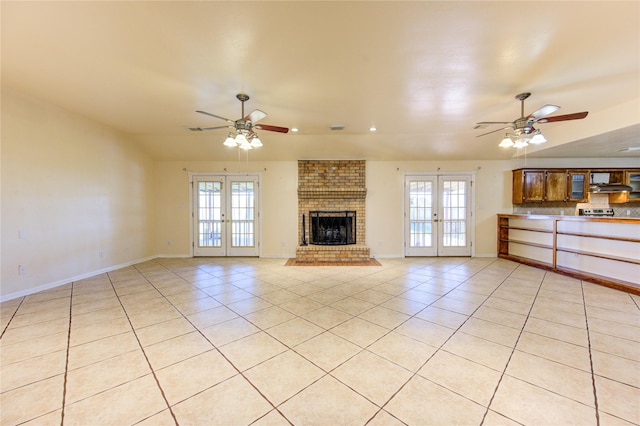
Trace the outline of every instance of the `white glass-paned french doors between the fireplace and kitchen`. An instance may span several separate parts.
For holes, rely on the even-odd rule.
[[[472,179],[405,176],[405,256],[470,256]]]

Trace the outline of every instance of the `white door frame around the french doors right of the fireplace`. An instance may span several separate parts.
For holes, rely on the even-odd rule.
[[[467,171],[467,172],[404,172],[403,173],[403,178],[402,178],[402,188],[403,188],[403,192],[402,192],[402,197],[403,197],[403,222],[402,222],[402,239],[403,239],[403,250],[404,250],[404,256],[407,257],[407,223],[409,220],[409,212],[407,211],[407,178],[408,177],[417,177],[417,178],[435,178],[435,182],[436,182],[436,188],[435,190],[438,192],[437,194],[437,198],[440,197],[440,179],[439,177],[455,177],[455,176],[460,176],[460,177],[464,177],[464,178],[469,178],[470,181],[470,188],[469,188],[469,220],[468,220],[468,238],[469,238],[469,244],[470,244],[470,256],[471,257],[475,257],[475,215],[474,215],[474,211],[475,211],[475,204],[476,204],[476,197],[475,197],[475,178],[476,178],[476,172],[474,171]],[[438,203],[438,216],[441,215],[441,209],[440,209],[440,201],[437,201]],[[440,224],[441,222],[439,222]],[[438,228],[441,228],[441,226],[439,226]],[[441,231],[439,229],[439,231]],[[438,238],[441,238],[441,232],[438,232]],[[439,245],[439,242],[436,241],[435,242],[435,247],[437,247]],[[434,248],[434,255],[435,256],[446,256],[443,255],[442,253],[438,253],[437,249]],[[425,256],[428,256],[429,254],[425,254]],[[411,255],[409,255],[411,256]],[[415,254],[413,256],[416,256]],[[417,255],[419,256],[419,255]]]

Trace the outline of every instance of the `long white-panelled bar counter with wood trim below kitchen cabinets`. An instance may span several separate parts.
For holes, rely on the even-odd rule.
[[[640,218],[498,214],[498,257],[640,295]]]

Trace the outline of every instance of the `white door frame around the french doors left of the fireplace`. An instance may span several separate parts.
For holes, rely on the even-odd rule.
[[[248,254],[247,256],[258,256],[260,257],[262,254],[262,172],[189,172],[189,209],[190,209],[190,219],[189,219],[189,245],[190,245],[190,256],[195,257],[195,227],[196,227],[196,212],[195,209],[195,200],[193,198],[193,194],[195,191],[194,181],[196,178],[200,178],[200,180],[211,179],[215,180],[215,178],[224,178],[225,182],[228,182],[229,179],[233,178],[241,178],[243,176],[250,177],[253,179],[257,179],[258,183],[258,196],[256,200],[256,218],[255,218],[255,245],[256,250],[255,254]],[[226,256],[243,256],[243,254],[235,254],[230,255],[228,252],[225,254]]]

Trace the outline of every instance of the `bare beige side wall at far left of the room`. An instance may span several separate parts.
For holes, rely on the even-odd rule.
[[[123,135],[3,88],[1,170],[3,299],[155,254],[154,163]]]

